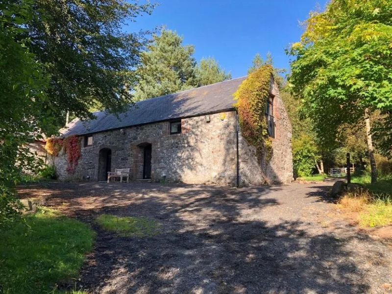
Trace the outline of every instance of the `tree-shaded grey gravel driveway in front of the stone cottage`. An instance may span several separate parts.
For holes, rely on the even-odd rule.
[[[20,193],[98,232],[77,285],[91,293],[392,293],[392,252],[339,218],[331,184],[50,183]],[[160,234],[118,237],[95,224],[102,213],[155,218]]]

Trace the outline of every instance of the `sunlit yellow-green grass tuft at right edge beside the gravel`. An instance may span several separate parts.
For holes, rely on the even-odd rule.
[[[377,198],[371,204],[365,206],[359,215],[363,226],[384,226],[392,224],[392,200],[391,198]]]

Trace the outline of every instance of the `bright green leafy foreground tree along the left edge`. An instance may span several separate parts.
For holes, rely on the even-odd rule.
[[[52,122],[40,119],[42,112],[50,111],[45,108],[46,67],[36,62],[28,40],[19,38],[32,18],[31,4],[28,0],[0,3],[0,229],[18,219],[21,206],[14,186],[23,169],[37,167],[23,145]]]

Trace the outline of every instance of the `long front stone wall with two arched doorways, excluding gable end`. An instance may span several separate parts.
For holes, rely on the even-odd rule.
[[[170,123],[151,123],[93,134],[83,147],[73,174],[66,172],[64,151],[54,158],[61,180],[98,180],[99,150],[111,149],[111,171],[130,168],[131,180],[142,178],[144,146],[151,144],[151,179],[184,183],[234,185],[236,181],[235,111],[182,119],[180,134]]]

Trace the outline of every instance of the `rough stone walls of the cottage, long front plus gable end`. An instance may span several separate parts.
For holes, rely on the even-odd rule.
[[[241,185],[287,183],[293,178],[291,125],[277,86],[274,95],[275,139],[270,161],[257,159],[255,148],[239,135]],[[209,122],[208,122],[209,120]],[[64,151],[54,159],[61,180],[104,180],[99,151],[111,150],[111,171],[129,168],[130,179],[143,177],[144,148],[152,147],[151,179],[190,184],[235,185],[237,176],[236,112],[182,119],[181,133],[170,134],[170,122],[150,123],[93,134],[93,145],[84,147],[73,174],[66,172]],[[101,151],[102,152],[102,151]],[[102,166],[102,160],[101,160]],[[98,172],[98,170],[101,172]],[[98,176],[100,175],[100,176]]]

